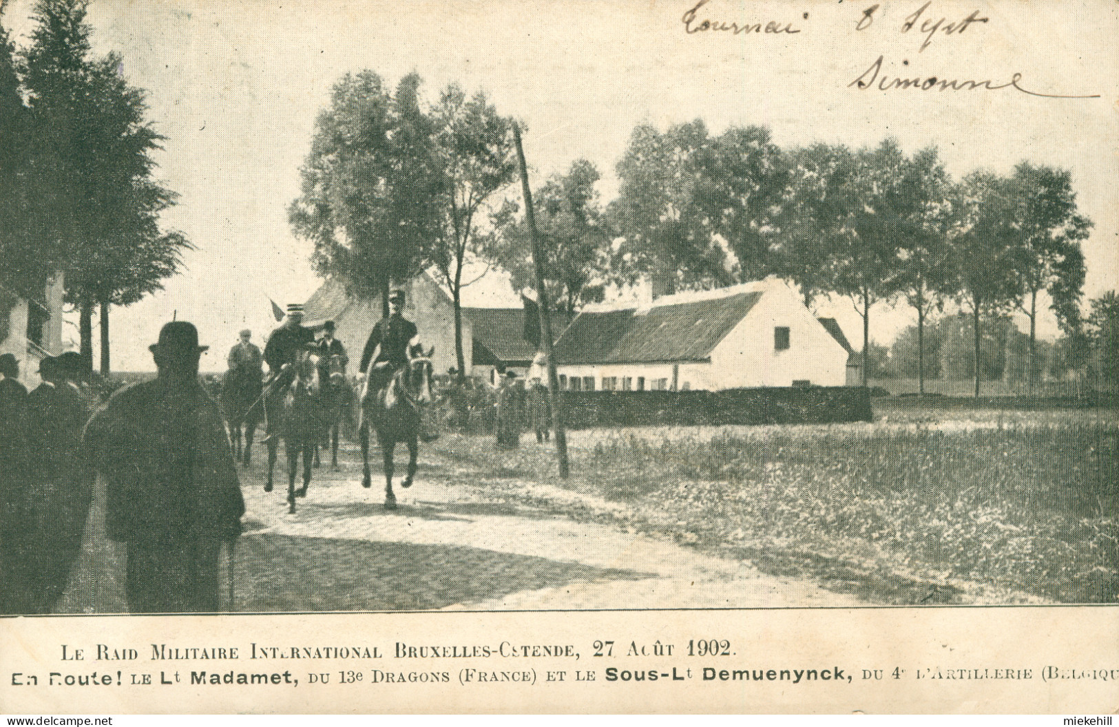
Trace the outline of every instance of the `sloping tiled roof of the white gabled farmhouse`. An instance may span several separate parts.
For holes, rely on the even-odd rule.
[[[647,309],[585,312],[556,344],[562,364],[702,361],[762,296],[745,291]]]

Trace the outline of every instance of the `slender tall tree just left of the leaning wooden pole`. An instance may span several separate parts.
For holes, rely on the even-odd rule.
[[[436,129],[435,150],[443,177],[442,225],[436,228],[427,259],[451,292],[454,309],[454,355],[459,377],[466,376],[462,350],[462,289],[468,256],[481,251],[479,210],[508,186],[517,172],[511,122],[498,115],[481,92],[469,100],[455,84],[449,85],[432,110]]]

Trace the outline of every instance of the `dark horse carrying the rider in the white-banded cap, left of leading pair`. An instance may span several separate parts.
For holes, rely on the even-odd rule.
[[[269,393],[269,434],[283,438],[288,457],[288,512],[295,511],[295,498],[307,497],[307,485],[311,483],[311,459],[314,444],[322,435],[325,407],[322,385],[319,378],[319,355],[308,348],[299,352],[292,365],[294,378],[286,387],[278,387]],[[272,491],[272,470],[276,462],[279,442],[269,438],[269,471],[264,491]],[[299,457],[303,456],[303,487],[295,489],[295,470]]]

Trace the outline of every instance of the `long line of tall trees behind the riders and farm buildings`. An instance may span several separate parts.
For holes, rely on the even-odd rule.
[[[455,85],[425,106],[419,86],[413,74],[391,93],[368,70],[336,85],[291,220],[316,242],[320,272],[342,273],[383,300],[389,281],[433,266],[460,321],[471,261],[530,287],[520,207],[499,199],[515,172],[514,122]],[[957,304],[972,318],[977,358],[989,317],[1022,310],[1031,351],[1040,300],[1066,330],[1080,322],[1080,240],[1091,221],[1064,170],[1022,162],[1009,176],[957,181],[935,148],[910,155],[887,139],[868,149],[784,150],[762,126],[713,135],[694,121],[636,128],[617,173],[619,193],[606,205],[585,160],[534,192],[546,283],[567,312],[640,278],[671,293],[775,275],[796,283],[806,303],[849,298],[863,318],[864,357],[872,311],[886,301],[913,306],[919,339],[933,310]],[[461,332],[457,349],[462,371]],[[1036,369],[1032,362],[1032,378]]]

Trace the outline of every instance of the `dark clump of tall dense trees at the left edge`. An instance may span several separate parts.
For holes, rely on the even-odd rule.
[[[121,56],[93,53],[86,6],[38,0],[19,49],[0,27],[0,285],[39,300],[62,274],[91,365],[100,308],[107,372],[110,306],[160,290],[190,245],[160,227],[176,201],[152,177],[163,138]]]

